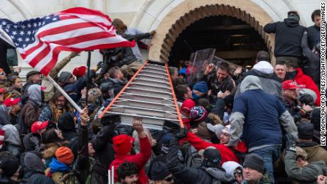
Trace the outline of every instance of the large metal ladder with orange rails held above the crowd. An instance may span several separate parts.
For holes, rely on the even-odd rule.
[[[146,60],[100,117],[119,114],[122,124],[141,117],[144,128],[162,129],[165,121],[181,125],[181,115],[167,63]],[[183,125],[182,125],[183,126]]]

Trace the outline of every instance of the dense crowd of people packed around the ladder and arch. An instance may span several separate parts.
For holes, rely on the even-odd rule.
[[[326,183],[327,147],[320,146],[320,11],[314,26],[299,25],[291,11],[284,22],[264,26],[276,33],[274,55],[259,51],[251,70],[231,72],[227,63],[169,67],[183,128],[163,130],[120,124],[98,115],[142,65],[141,33],[119,19],[117,33],[134,48],[100,50],[103,62],[87,72],[50,72],[78,104],[38,71],[23,85],[19,67],[0,70],[0,183]],[[58,75],[60,73],[60,75]],[[89,89],[89,90],[87,90]]]

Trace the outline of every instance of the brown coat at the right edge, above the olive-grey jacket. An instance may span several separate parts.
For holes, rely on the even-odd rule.
[[[308,155],[306,160],[309,161],[309,163],[313,161],[325,161],[327,165],[327,151],[324,148],[321,148],[318,143],[299,142],[296,146],[300,146],[304,151],[306,151],[306,154]]]

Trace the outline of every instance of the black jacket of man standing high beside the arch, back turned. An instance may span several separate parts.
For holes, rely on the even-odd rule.
[[[301,58],[301,38],[306,28],[299,25],[299,21],[285,18],[283,22],[267,23],[264,32],[276,33],[275,57],[289,56]]]

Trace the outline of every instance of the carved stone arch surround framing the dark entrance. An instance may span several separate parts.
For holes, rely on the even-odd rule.
[[[149,59],[168,62],[171,47],[178,35],[191,23],[208,16],[232,16],[250,24],[262,36],[272,55],[274,36],[263,31],[263,26],[272,22],[272,18],[257,4],[237,0],[186,0],[172,9],[159,24],[151,42]]]

